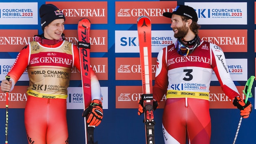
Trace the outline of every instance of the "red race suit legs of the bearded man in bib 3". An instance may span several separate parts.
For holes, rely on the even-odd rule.
[[[163,112],[165,144],[210,144],[209,102],[193,98],[169,98]]]

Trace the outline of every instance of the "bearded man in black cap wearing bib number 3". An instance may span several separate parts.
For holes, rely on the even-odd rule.
[[[245,104],[240,97],[222,49],[200,40],[197,35],[200,25],[194,8],[178,5],[163,16],[170,18],[177,38],[175,44],[158,53],[153,87],[156,102],[166,95],[162,122],[165,144],[210,144],[209,88],[213,71],[223,92],[243,118],[249,117],[252,104],[249,101]]]

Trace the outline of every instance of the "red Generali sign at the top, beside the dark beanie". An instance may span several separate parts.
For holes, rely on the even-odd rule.
[[[46,2],[54,4],[65,15],[65,24],[77,24],[78,21],[87,17],[93,24],[108,23],[107,2]]]

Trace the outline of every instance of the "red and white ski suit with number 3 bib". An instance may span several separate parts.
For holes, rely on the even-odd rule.
[[[230,99],[239,96],[226,65],[223,51],[202,41],[188,56],[177,53],[175,44],[163,48],[157,57],[153,97],[167,96],[163,112],[165,144],[209,144],[211,122],[209,87],[213,70]],[[231,103],[230,103],[231,104]]]

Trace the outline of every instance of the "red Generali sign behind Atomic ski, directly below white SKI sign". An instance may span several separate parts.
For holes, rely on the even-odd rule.
[[[141,63],[139,57],[115,58],[116,80],[141,80]],[[152,57],[152,80],[156,74],[156,57]]]

